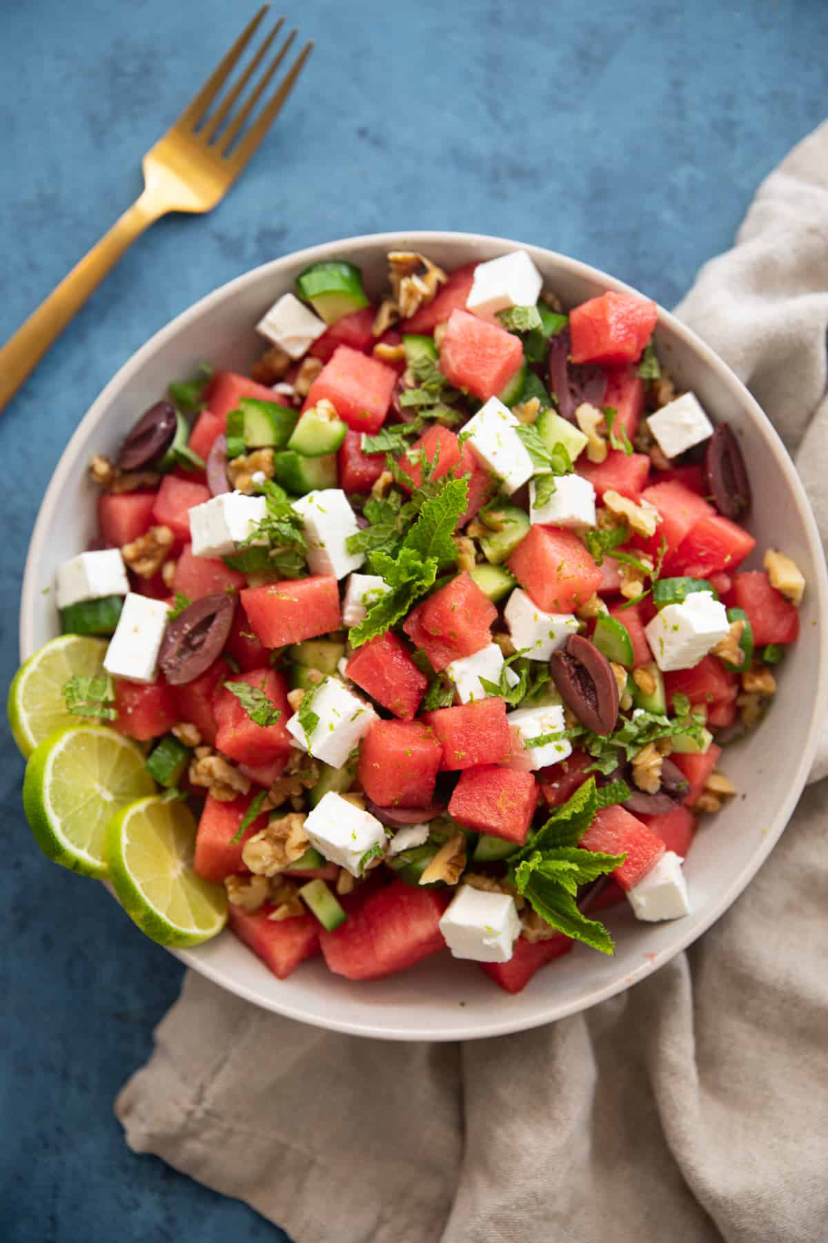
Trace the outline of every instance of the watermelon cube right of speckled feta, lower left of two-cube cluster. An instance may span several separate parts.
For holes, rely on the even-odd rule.
[[[380,807],[428,807],[442,758],[422,721],[377,721],[360,747],[359,778]]]

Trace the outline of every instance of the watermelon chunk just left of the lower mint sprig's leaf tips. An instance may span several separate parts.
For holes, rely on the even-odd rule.
[[[531,773],[483,764],[461,773],[448,814],[478,833],[523,845],[536,805],[538,786]]]

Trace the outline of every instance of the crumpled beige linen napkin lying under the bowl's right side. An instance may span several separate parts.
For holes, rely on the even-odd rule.
[[[776,421],[827,536],[828,126],[679,313]],[[812,779],[826,772],[828,746]],[[827,813],[828,782],[812,784],[686,955],[516,1037],[350,1038],[189,975],[118,1096],[127,1141],[297,1243],[822,1243]]]

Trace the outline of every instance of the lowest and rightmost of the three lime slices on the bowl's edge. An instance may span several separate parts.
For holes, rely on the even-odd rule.
[[[197,945],[223,929],[227,896],[194,873],[195,817],[168,797],[142,798],[109,820],[109,879],[129,917],[153,941]]]

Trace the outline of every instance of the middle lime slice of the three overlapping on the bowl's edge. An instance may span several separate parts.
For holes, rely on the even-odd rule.
[[[84,876],[106,876],[104,837],[114,812],[155,789],[130,738],[99,725],[58,730],[26,764],[24,809],[45,855]]]

